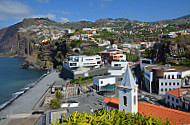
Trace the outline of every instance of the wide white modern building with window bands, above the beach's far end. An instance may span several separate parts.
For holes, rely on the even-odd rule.
[[[77,68],[99,68],[101,66],[101,56],[70,56],[67,65],[72,69]]]

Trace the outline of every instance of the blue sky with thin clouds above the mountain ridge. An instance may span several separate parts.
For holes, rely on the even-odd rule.
[[[57,22],[127,18],[144,22],[190,14],[190,0],[0,0],[0,28],[24,18]]]

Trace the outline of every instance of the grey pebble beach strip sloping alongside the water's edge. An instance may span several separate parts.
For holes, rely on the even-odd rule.
[[[30,113],[49,85],[56,80],[60,80],[59,73],[57,72],[52,72],[42,78],[33,88],[30,88],[5,109],[1,110],[0,118],[5,118],[11,114]]]

